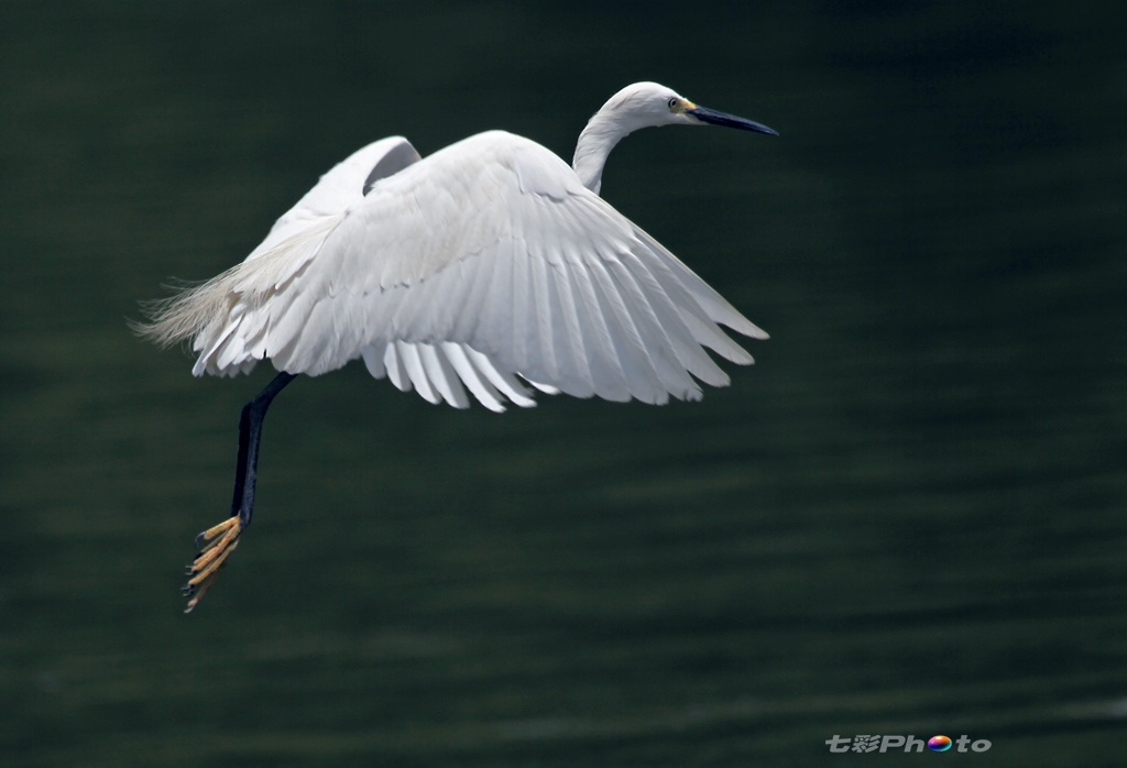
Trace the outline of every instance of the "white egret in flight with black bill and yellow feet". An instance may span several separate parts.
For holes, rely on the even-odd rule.
[[[193,374],[279,372],[242,411],[231,517],[197,536],[192,610],[250,524],[263,419],[299,374],[363,358],[432,403],[492,411],[547,393],[698,400],[728,376],[709,348],[752,357],[719,324],[766,333],[600,196],[627,134],[711,123],[775,134],[653,82],[615,93],[587,123],[574,168],[533,141],[490,131],[426,159],[378,141],[321,177],[247,259],[153,305],[139,330],[190,340]]]

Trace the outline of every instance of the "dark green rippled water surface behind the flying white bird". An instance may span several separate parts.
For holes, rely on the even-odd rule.
[[[1102,9],[1102,10],[1101,10]],[[0,6],[0,763],[1120,766],[1116,3]],[[126,319],[390,134],[570,159],[772,333],[701,403],[454,411],[363,366],[239,409]],[[944,733],[984,753],[831,754]]]

